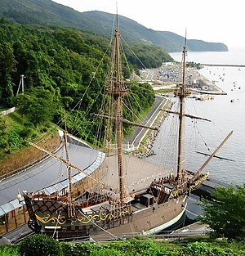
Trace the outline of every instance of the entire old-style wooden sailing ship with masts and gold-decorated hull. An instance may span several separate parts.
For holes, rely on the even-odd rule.
[[[51,195],[47,195],[44,191],[24,191],[22,193],[29,212],[28,224],[33,231],[54,236],[58,240],[75,238],[108,240],[122,236],[149,236],[170,227],[180,220],[185,213],[189,192],[198,188],[207,179],[208,173],[203,174],[203,168],[216,154],[214,152],[196,173],[187,172],[182,168],[182,135],[186,116],[184,114],[184,101],[185,97],[190,94],[185,86],[186,52],[185,40],[183,81],[175,91],[175,96],[180,100],[181,106],[180,112],[174,113],[180,117],[176,175],[169,174],[153,178],[144,190],[128,191],[125,159],[132,159],[134,156],[125,155],[122,149],[123,124],[131,124],[122,117],[122,102],[131,90],[122,79],[120,33],[117,21],[114,31],[114,47],[110,60],[111,75],[106,83],[105,93],[106,98],[113,101],[110,105],[113,106],[113,110],[110,110],[107,115],[98,114],[93,115],[92,118],[109,121],[110,125],[105,125],[105,128],[110,135],[114,135],[116,146],[112,149],[113,153],[105,150],[104,161],[107,162],[101,164],[100,168],[101,171],[103,171],[103,168],[108,171],[109,164],[112,163],[111,159],[117,158],[112,169],[114,170],[114,176],[117,175],[118,188],[112,186],[110,178],[107,179],[108,184],[105,184],[105,180],[96,179],[87,174],[87,179],[91,179],[92,186],[85,187],[83,191],[80,191],[80,195],[74,198],[72,170],[75,169],[80,172],[83,172],[83,170],[69,162],[68,132],[65,130],[63,137],[66,159],[61,159],[61,157],[59,159],[67,166],[68,186]],[[192,116],[192,118],[194,117]],[[114,124],[114,127],[111,124]],[[109,148],[109,140],[108,137],[105,140],[106,149]],[[40,150],[43,149],[40,148]],[[50,155],[55,157],[53,154]],[[144,177],[137,178],[140,181]]]

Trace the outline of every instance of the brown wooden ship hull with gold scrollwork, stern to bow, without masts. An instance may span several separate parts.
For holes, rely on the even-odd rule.
[[[187,195],[207,179],[194,181],[193,173],[176,186],[175,177],[159,178],[145,191],[136,191],[128,202],[115,199],[111,190],[84,192],[72,204],[66,196],[24,194],[29,227],[58,239],[93,237],[95,240],[120,236],[148,236],[175,224],[185,213]]]

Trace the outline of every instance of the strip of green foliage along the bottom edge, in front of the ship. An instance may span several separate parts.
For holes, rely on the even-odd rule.
[[[25,256],[114,256],[114,255],[166,255],[166,256],[196,256],[196,255],[245,255],[244,245],[239,243],[220,242],[183,242],[169,243],[150,239],[120,240],[104,244],[72,242],[57,242],[45,235],[29,236],[19,245],[0,247],[0,255],[25,255]]]

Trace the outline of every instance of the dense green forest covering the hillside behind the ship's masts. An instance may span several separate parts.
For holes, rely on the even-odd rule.
[[[46,132],[51,124],[64,128],[64,123],[60,123],[64,117],[69,132],[89,142],[94,139],[94,120],[90,115],[100,108],[109,43],[110,38],[79,29],[18,25],[1,20],[0,110],[17,108],[14,115],[0,118],[1,159],[26,146],[26,139],[35,137],[37,131]],[[167,52],[147,43],[126,45],[125,56],[129,62],[122,61],[128,67],[124,79],[129,79],[133,71],[139,74],[139,69],[172,61]],[[20,88],[21,75],[24,93]],[[131,82],[130,88],[132,93],[128,97],[134,98],[131,107],[139,115],[144,114],[154,104],[152,88],[136,82]],[[135,118],[130,115],[128,111],[127,118]]]

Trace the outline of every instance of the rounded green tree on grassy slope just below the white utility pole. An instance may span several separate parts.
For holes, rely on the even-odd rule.
[[[19,94],[16,106],[35,126],[51,121],[56,110],[52,93],[43,87],[30,88],[28,92]]]

